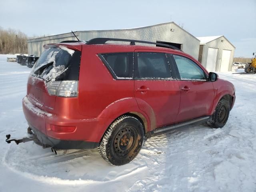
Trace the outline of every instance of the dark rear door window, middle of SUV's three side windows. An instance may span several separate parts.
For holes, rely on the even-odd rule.
[[[170,66],[165,53],[138,52],[136,78],[166,79],[171,78]]]

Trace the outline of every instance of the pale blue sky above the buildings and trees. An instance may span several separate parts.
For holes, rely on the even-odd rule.
[[[28,36],[184,24],[192,35],[224,35],[235,56],[256,52],[256,0],[1,0],[0,26]]]

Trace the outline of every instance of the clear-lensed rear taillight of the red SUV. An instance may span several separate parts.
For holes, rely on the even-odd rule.
[[[50,95],[60,97],[78,96],[78,81],[51,81],[46,86]]]

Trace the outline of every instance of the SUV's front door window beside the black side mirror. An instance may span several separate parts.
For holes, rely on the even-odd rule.
[[[182,80],[206,81],[204,71],[194,61],[179,55],[173,55],[173,57]]]

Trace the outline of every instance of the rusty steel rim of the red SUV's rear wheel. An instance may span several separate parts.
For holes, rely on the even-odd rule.
[[[114,151],[116,155],[126,157],[136,147],[138,131],[133,126],[123,127],[115,136]]]

